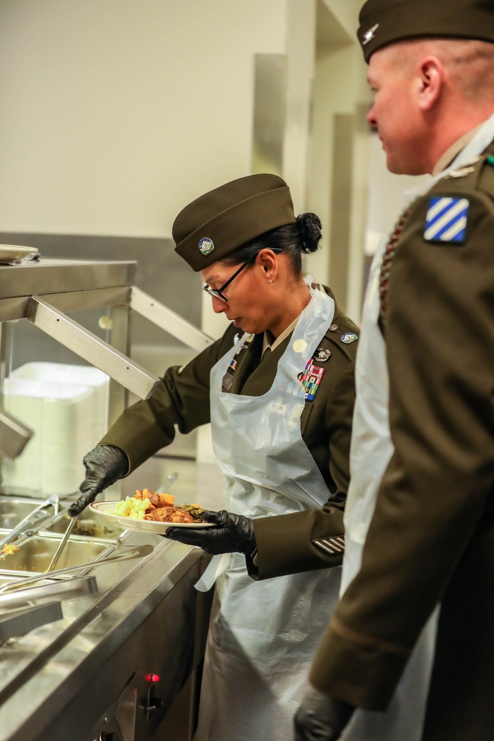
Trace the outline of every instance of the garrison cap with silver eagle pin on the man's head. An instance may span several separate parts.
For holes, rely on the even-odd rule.
[[[367,0],[358,41],[375,51],[407,39],[476,39],[494,44],[494,0]]]

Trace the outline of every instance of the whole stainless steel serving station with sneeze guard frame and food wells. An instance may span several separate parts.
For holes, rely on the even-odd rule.
[[[51,259],[0,266],[0,394],[13,319],[29,319],[110,374],[110,422],[126,404],[123,387],[146,398],[158,380],[128,358],[131,310],[178,332],[191,348],[207,347],[210,338],[132,286],[135,270],[133,262]],[[63,313],[102,307],[110,307],[108,345]],[[61,496],[62,507],[70,501]],[[33,493],[0,494],[0,540],[7,542],[37,504]],[[19,551],[0,554],[0,605],[4,589],[50,568],[66,525],[48,519],[46,530],[23,534]],[[90,588],[84,596],[61,595],[54,622],[42,625],[40,619],[41,627],[0,643],[0,741],[150,741],[177,697],[186,697],[187,731],[181,738],[190,739],[210,602],[193,585],[209,557],[153,534],[104,529],[87,513],[78,525],[57,568],[77,566],[74,582],[90,575],[84,582]],[[142,544],[153,551],[104,564],[104,558]]]

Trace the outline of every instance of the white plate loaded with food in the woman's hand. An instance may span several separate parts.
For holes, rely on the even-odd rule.
[[[171,494],[150,489],[138,489],[136,496],[121,502],[93,502],[90,509],[119,528],[141,533],[164,535],[168,528],[214,527],[212,522],[204,522],[199,505],[176,505]]]

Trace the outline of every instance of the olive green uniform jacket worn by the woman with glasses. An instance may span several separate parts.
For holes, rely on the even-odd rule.
[[[326,293],[334,300],[329,288]],[[251,576],[266,579],[341,564],[341,554],[330,555],[314,541],[344,533],[343,510],[349,474],[348,456],[352,428],[355,383],[353,376],[358,342],[346,344],[341,337],[356,335],[358,328],[338,309],[330,330],[321,340],[324,375],[313,401],[306,401],[301,414],[301,433],[321,471],[331,496],[321,510],[263,517],[254,522],[256,566],[247,556]],[[210,422],[210,371],[233,348],[238,330],[231,325],[221,339],[203,350],[184,368],[169,368],[153,396],[124,411],[101,445],[116,445],[127,454],[130,471],[138,468],[175,437],[175,425],[188,433]],[[223,391],[244,396],[262,396],[276,376],[278,360],[287,349],[291,333],[273,352],[261,356],[263,334],[236,356],[233,385]],[[327,357],[327,359],[325,359]]]

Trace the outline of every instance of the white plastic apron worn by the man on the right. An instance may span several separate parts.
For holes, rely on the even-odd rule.
[[[427,193],[451,170],[471,162],[494,139],[494,116],[475,134],[452,165],[424,186],[405,194],[407,203]],[[358,573],[375,498],[394,447],[389,424],[386,348],[379,316],[379,273],[387,239],[370,269],[356,361],[356,406],[350,447],[350,488],[345,508],[345,554],[341,593]],[[342,737],[345,741],[420,741],[433,666],[439,608],[427,623],[395,691],[387,713],[357,711]]]

